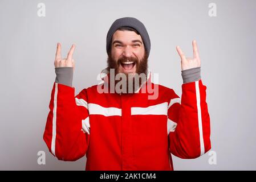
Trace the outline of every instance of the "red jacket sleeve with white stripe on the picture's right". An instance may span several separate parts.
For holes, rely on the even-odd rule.
[[[182,96],[172,94],[168,105],[170,152],[182,159],[204,155],[211,148],[210,116],[202,80],[182,84]]]

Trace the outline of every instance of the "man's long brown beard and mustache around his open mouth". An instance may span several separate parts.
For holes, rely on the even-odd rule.
[[[122,67],[122,64],[127,61],[132,61],[133,64],[135,64],[134,66],[136,66],[137,74],[120,72],[120,66]],[[112,56],[108,56],[107,64],[108,71],[110,71],[110,69],[114,69],[115,78],[117,74],[119,76],[121,75],[121,81],[115,79],[115,88],[118,84],[120,85],[121,82],[121,85],[119,86],[121,92],[119,93],[135,93],[141,87],[141,85],[147,81],[148,59],[146,52],[141,60],[138,60],[137,57],[125,56],[120,57],[118,60],[114,60]],[[126,79],[123,79],[123,77]],[[126,88],[123,88],[123,85],[125,85]]]

